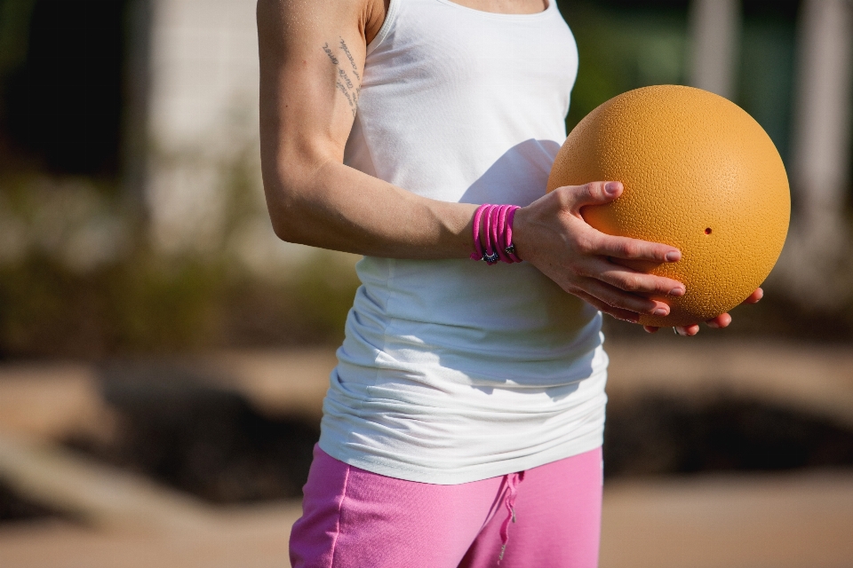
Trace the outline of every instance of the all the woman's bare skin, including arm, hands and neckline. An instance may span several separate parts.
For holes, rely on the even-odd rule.
[[[546,0],[457,4],[498,13],[535,13],[547,6]],[[476,205],[430,200],[343,163],[367,44],[386,13],[387,0],[259,0],[261,166],[270,219],[284,241],[319,248],[388,258],[466,258],[474,251]],[[352,82],[347,88],[338,84],[341,70],[347,72],[344,83]],[[600,233],[580,215],[583,206],[621,193],[618,182],[547,193],[516,213],[516,250],[563,290],[614,318],[637,322],[641,314],[666,315],[669,306],[647,296],[682,296],[682,283],[613,260],[677,262],[681,252]],[[760,298],[756,290],[747,303]],[[721,314],[707,324],[726,327],[730,321]],[[696,335],[698,329],[682,327],[680,333]]]

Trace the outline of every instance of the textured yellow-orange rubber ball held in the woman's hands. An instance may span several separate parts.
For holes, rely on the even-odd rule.
[[[578,123],[557,154],[548,191],[620,181],[625,191],[581,214],[611,235],[679,248],[677,263],[632,267],[679,280],[684,296],[648,326],[712,319],[742,303],[782,252],[791,214],[785,166],[749,114],[718,95],[678,85],[628,91]]]

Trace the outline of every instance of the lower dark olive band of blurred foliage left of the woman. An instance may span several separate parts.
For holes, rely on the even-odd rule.
[[[338,343],[356,286],[350,267],[323,255],[266,281],[223,258],[145,247],[88,272],[35,254],[0,265],[0,357]]]

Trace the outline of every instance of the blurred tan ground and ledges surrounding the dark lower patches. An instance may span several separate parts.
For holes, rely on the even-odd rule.
[[[687,407],[734,397],[839,431],[853,427],[849,347],[675,337],[609,347],[615,409],[650,393]],[[182,364],[194,380],[239,394],[259,414],[307,421],[315,420],[334,364],[323,350],[232,351],[194,361]],[[134,365],[124,368],[145,367]],[[0,524],[0,565],[285,565],[298,500],[216,504],[58,445],[121,430],[121,414],[104,396],[104,377],[112,375],[115,368],[0,367],[0,485],[53,511]],[[849,467],[631,475],[605,485],[602,568],[841,568],[851,559]]]

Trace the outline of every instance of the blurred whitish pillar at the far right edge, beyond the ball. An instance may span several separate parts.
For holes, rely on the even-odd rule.
[[[853,4],[804,0],[798,23],[790,181],[795,216],[781,276],[804,303],[831,308],[850,297],[850,106]]]

